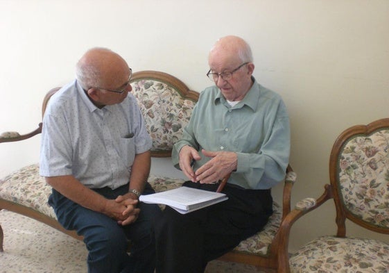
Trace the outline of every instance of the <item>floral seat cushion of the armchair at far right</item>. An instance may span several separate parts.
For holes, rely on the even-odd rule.
[[[389,245],[361,238],[322,236],[290,258],[291,272],[388,272]]]

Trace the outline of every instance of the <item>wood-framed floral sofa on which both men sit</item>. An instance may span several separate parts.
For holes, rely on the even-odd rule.
[[[144,115],[148,132],[153,139],[152,156],[170,157],[173,144],[181,138],[182,129],[189,122],[191,111],[198,100],[198,92],[187,88],[178,78],[163,72],[144,71],[132,76],[132,94],[138,100]],[[51,90],[45,97],[42,113],[51,95],[59,88]],[[13,142],[31,138],[42,130],[42,124],[27,135],[3,133],[0,142]],[[173,168],[173,165],[172,165]],[[180,187],[182,179],[150,174],[148,181],[157,192]],[[248,238],[222,258],[252,265],[287,269],[288,228],[279,232],[283,217],[291,210],[291,188],[295,173],[289,167],[286,174],[283,204],[274,204],[275,213],[265,229]],[[0,181],[0,210],[6,209],[32,217],[53,226],[78,240],[74,231],[66,231],[58,224],[53,209],[47,204],[51,188],[39,176],[37,164],[22,167]],[[10,231],[5,231],[10,232]],[[0,247],[3,251],[3,233],[0,223]],[[279,258],[279,257],[282,257]],[[281,272],[281,271],[280,271]],[[287,271],[285,271],[287,272]]]

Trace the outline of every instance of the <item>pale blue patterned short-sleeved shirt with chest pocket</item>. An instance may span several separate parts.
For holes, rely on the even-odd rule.
[[[136,154],[151,148],[137,101],[97,108],[73,81],[51,97],[44,113],[41,176],[73,175],[88,188],[130,181]]]

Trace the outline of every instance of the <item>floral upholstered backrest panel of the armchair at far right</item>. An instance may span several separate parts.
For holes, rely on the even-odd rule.
[[[349,140],[338,166],[345,208],[366,222],[389,228],[389,129]]]

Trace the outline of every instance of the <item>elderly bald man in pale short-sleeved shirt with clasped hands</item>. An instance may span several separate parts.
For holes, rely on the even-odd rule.
[[[141,204],[151,139],[131,91],[132,70],[109,49],[87,51],[76,80],[44,113],[40,174],[65,229],[84,236],[88,272],[153,273],[157,205]],[[127,254],[131,240],[131,254]]]

